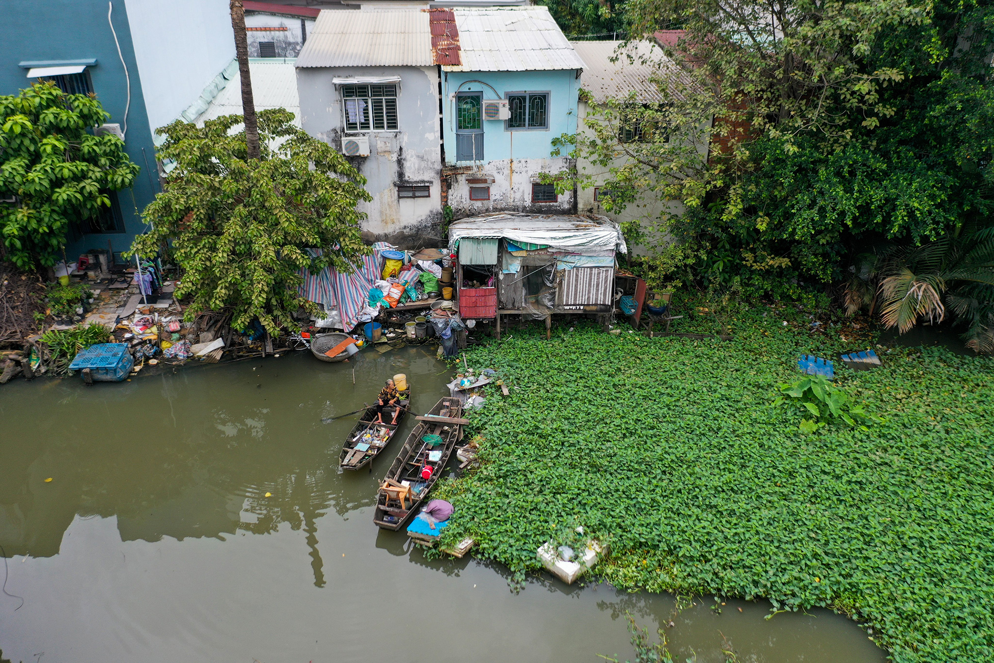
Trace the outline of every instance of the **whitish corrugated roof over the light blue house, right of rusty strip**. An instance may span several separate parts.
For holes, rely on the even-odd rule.
[[[583,61],[549,9],[455,7],[461,65],[446,72],[530,72],[583,69]]]

